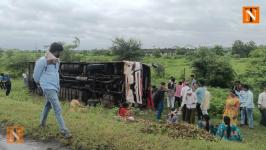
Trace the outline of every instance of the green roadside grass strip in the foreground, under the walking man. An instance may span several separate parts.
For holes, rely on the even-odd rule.
[[[266,130],[255,123],[255,129],[241,128],[244,135],[243,143],[235,142],[207,142],[204,140],[172,139],[167,135],[145,134],[141,128],[143,123],[121,122],[115,117],[116,109],[102,107],[89,108],[85,112],[69,112],[67,103],[62,103],[63,116],[66,125],[72,132],[72,140],[64,140],[58,133],[58,127],[50,112],[48,128],[38,128],[39,115],[43,108],[43,98],[31,96],[22,86],[21,80],[15,80],[13,91],[5,97],[0,91],[0,122],[7,124],[23,125],[26,135],[38,140],[57,139],[70,145],[72,149],[266,149]],[[139,112],[138,119],[150,119],[153,112]],[[149,116],[149,117],[148,117]],[[213,120],[219,122],[219,119]],[[3,130],[4,131],[4,130]]]

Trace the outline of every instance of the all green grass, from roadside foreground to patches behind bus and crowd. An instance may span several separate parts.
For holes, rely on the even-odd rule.
[[[80,55],[81,61],[105,62],[112,61],[113,56],[86,54]],[[235,72],[240,75],[245,73],[250,59],[232,58]],[[162,64],[165,66],[165,77],[156,77],[152,70],[152,84],[158,85],[160,82],[167,82],[170,76],[177,80],[186,73],[188,78],[191,74],[190,61],[184,57],[145,57],[146,64]],[[4,70],[0,66],[1,70]],[[62,103],[63,115],[66,124],[74,135],[72,140],[64,140],[58,134],[58,127],[53,115],[50,112],[48,118],[48,128],[40,130],[38,128],[39,116],[43,107],[43,97],[31,95],[23,87],[21,80],[14,80],[13,90],[9,97],[5,97],[0,91],[0,122],[2,125],[20,124],[26,129],[26,135],[38,140],[56,139],[69,145],[72,149],[83,147],[84,149],[266,149],[265,127],[258,125],[259,112],[255,109],[255,129],[241,128],[244,141],[235,142],[208,142],[204,140],[184,140],[173,139],[167,135],[145,134],[141,129],[145,127],[142,122],[125,123],[119,121],[115,115],[117,109],[105,109],[101,106],[89,108],[85,112],[69,112],[68,103]],[[221,122],[221,113],[229,89],[210,88],[212,94],[210,114],[212,122]],[[256,101],[256,100],[255,100]],[[155,114],[151,111],[136,111],[137,119],[155,121]],[[167,111],[165,109],[163,116]],[[3,128],[4,129],[4,128]]]

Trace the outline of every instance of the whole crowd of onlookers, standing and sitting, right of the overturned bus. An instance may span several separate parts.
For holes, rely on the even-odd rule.
[[[180,81],[176,83],[174,77],[170,77],[168,84],[162,82],[157,89],[151,88],[152,98],[148,99],[150,108],[156,111],[156,120],[161,121],[164,105],[169,110],[166,122],[178,124],[181,122],[196,124],[217,137],[229,141],[242,141],[238,128],[237,118],[240,115],[240,127],[254,128],[253,109],[255,108],[253,93],[246,84],[235,82],[225,101],[223,121],[220,125],[213,125],[209,116],[211,93],[203,80],[197,81],[191,75],[191,82]],[[166,99],[166,102],[165,102]],[[260,124],[266,126],[266,86],[264,92],[259,95],[258,108],[261,112]],[[240,113],[239,113],[240,112]],[[122,118],[132,117],[127,104],[123,104],[118,115]]]

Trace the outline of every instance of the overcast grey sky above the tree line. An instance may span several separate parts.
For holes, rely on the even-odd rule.
[[[115,37],[143,48],[230,46],[234,40],[266,44],[266,1],[259,25],[242,24],[252,0],[1,0],[0,48],[43,49],[53,41],[79,49],[109,48]]]

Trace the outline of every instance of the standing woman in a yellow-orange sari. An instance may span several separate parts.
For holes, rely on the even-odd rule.
[[[231,124],[233,125],[237,125],[239,105],[240,105],[240,102],[236,96],[235,91],[231,91],[225,103],[223,117],[228,116],[231,120]]]

